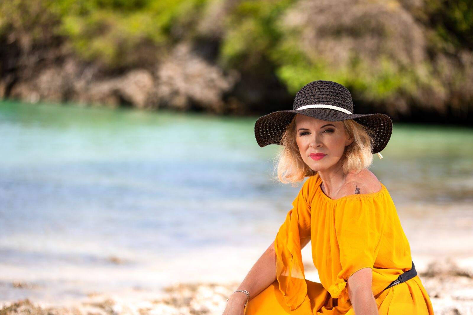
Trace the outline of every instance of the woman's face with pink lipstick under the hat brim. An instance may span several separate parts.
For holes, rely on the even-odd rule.
[[[296,142],[306,164],[315,171],[327,170],[343,156],[345,146],[353,141],[343,126],[343,121],[326,121],[306,115],[296,115]],[[324,153],[322,156],[312,156]]]

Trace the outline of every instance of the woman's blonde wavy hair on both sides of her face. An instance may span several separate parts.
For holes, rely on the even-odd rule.
[[[294,118],[282,135],[281,149],[274,159],[277,176],[273,178],[274,180],[280,180],[284,184],[291,183],[293,187],[296,187],[296,183],[303,181],[305,177],[317,174],[317,171],[309,168],[300,156],[296,142],[295,118],[296,115],[294,115]],[[373,163],[371,150],[374,145],[374,131],[353,119],[342,121],[348,136],[353,137],[353,142],[345,147],[345,152],[341,158],[343,172],[345,174],[350,172],[359,173]]]

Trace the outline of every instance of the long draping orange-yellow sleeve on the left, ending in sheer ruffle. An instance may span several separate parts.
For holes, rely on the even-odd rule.
[[[300,306],[307,295],[300,239],[310,238],[312,177],[302,185],[298,196],[292,202],[293,209],[287,213],[274,241],[276,278],[290,310]]]

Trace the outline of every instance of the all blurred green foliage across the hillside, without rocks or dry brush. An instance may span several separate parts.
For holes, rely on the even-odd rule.
[[[156,62],[181,40],[205,37],[196,26],[209,18],[206,9],[223,2],[231,9],[222,11],[223,23],[215,26],[223,28],[216,60],[222,68],[275,74],[291,94],[314,78],[327,78],[379,102],[413,94],[418,85],[440,85],[429,63],[401,64],[380,53],[373,71],[371,62],[354,52],[348,64],[334,67],[304,51],[300,30],[281,23],[297,0],[4,0],[0,35],[27,34],[35,43],[61,37],[82,60],[134,67]],[[431,49],[473,49],[471,0],[426,0],[412,14],[433,30]]]

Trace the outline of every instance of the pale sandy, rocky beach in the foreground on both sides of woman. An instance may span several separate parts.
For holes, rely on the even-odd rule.
[[[454,259],[446,259],[416,264],[416,269],[436,315],[473,314],[473,266],[460,266]],[[87,300],[68,306],[23,299],[2,303],[0,315],[219,315],[237,286],[236,282],[181,283],[157,292],[156,298],[134,302],[106,293],[90,293]]]

